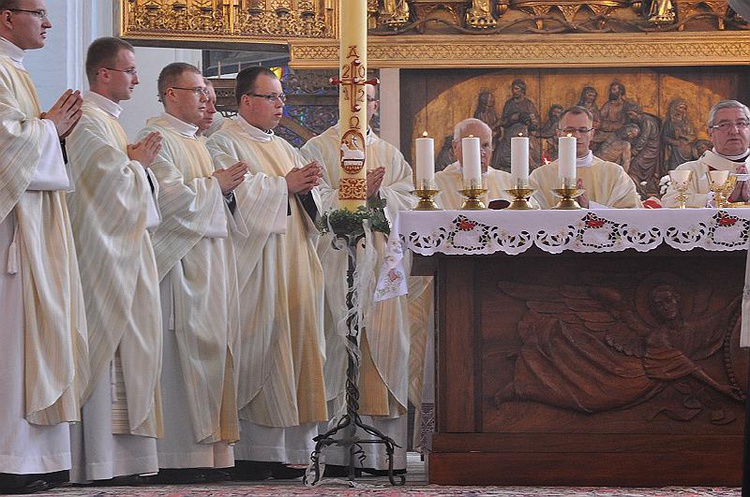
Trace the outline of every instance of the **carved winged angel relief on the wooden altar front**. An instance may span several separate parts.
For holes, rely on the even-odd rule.
[[[687,420],[715,404],[705,386],[735,400],[744,395],[699,365],[722,349],[739,298],[709,305],[706,291],[690,293],[672,274],[646,276],[627,292],[515,282],[498,288],[529,309],[518,324],[523,344],[513,381],[494,396],[498,407],[536,401],[597,413],[630,408],[671,388],[692,404],[658,405],[654,416]]]

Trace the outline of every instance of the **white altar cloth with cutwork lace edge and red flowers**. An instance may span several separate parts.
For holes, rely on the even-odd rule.
[[[750,209],[401,211],[388,239],[375,298],[406,293],[404,251],[434,255],[564,251],[647,252],[665,244],[688,251],[745,250]]]

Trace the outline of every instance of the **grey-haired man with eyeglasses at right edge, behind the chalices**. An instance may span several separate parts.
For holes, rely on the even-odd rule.
[[[729,196],[730,202],[750,201],[750,110],[737,100],[722,100],[708,113],[708,137],[713,149],[695,161],[677,166],[678,170],[692,171],[687,189],[688,207],[714,206],[708,181],[708,171],[729,171],[737,174],[737,183]],[[678,207],[678,192],[671,185],[662,198],[665,207]]]

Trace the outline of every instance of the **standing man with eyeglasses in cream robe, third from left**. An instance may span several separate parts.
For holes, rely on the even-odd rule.
[[[139,133],[162,136],[151,165],[162,217],[153,246],[164,332],[164,437],[155,481],[205,482],[226,476],[211,468],[233,466],[230,444],[239,438],[239,301],[230,239],[236,225],[225,199],[247,168],[236,163],[214,171],[205,138],[197,135],[208,91],[196,67],[169,64],[158,89],[165,112]]]

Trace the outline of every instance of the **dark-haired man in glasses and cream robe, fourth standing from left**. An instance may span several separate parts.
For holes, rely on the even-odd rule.
[[[235,192],[248,227],[234,237],[242,310],[236,476],[300,476],[285,465],[309,463],[317,423],[328,419],[323,273],[308,214],[321,168],[274,135],[285,96],[273,72],[240,71],[235,93],[239,115],[208,147],[217,168],[240,160],[250,171]]]

